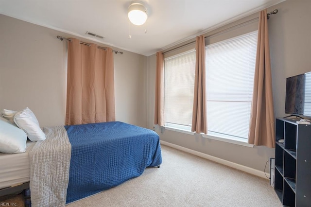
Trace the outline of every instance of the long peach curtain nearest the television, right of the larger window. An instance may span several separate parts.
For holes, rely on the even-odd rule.
[[[267,10],[260,11],[248,143],[274,148],[275,118],[267,21]]]

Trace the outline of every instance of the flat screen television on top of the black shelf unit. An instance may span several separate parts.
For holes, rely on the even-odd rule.
[[[311,117],[311,72],[286,79],[285,113]]]

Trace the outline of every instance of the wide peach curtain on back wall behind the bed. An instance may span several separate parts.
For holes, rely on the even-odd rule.
[[[115,121],[113,52],[68,43],[66,125]]]

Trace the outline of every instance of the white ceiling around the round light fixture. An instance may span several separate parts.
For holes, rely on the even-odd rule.
[[[149,56],[281,1],[140,0],[148,14],[141,26],[130,26],[132,0],[0,0],[0,14]]]

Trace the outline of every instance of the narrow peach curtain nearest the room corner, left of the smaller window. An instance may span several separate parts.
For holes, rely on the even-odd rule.
[[[164,126],[164,55],[156,52],[155,73],[155,124]]]

